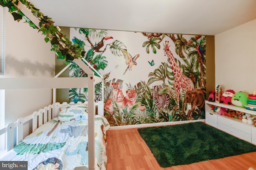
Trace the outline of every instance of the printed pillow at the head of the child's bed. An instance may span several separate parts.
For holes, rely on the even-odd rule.
[[[66,104],[60,107],[58,121],[88,120],[87,104]]]

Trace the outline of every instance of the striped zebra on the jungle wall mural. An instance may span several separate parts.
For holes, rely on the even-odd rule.
[[[153,99],[155,99],[155,105],[157,112],[160,113],[160,109],[164,109],[164,105],[166,106],[166,109],[168,110],[170,98],[169,95],[164,93],[164,94],[158,94],[158,86],[154,86],[153,88]]]

